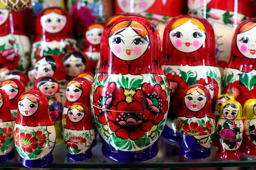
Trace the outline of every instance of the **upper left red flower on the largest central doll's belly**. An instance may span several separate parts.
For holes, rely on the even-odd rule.
[[[124,89],[119,87],[116,88],[115,82],[108,82],[108,85],[100,85],[96,88],[96,91],[93,94],[93,105],[94,112],[99,119],[99,122],[106,125],[107,124],[107,114],[112,106],[115,106],[116,103],[120,100],[125,99]],[[102,109],[107,110],[102,110]]]

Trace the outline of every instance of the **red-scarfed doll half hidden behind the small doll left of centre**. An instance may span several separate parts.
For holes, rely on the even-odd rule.
[[[91,110],[90,87],[91,87],[91,82],[82,77],[74,78],[67,84],[67,88],[66,88],[67,100],[62,113],[63,130],[66,125],[67,110],[68,108],[70,108],[71,105],[75,103],[82,103],[83,105],[86,105]]]

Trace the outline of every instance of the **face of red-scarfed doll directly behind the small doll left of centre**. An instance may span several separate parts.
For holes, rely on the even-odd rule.
[[[78,100],[81,97],[81,95],[82,95],[82,90],[80,88],[76,87],[76,85],[74,83],[67,86],[66,97],[67,97],[68,101],[75,102],[76,100]]]

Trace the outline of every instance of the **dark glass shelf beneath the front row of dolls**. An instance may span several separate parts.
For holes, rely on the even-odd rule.
[[[178,144],[167,144],[162,139],[159,141],[159,152],[154,159],[141,163],[119,163],[108,160],[102,155],[102,143],[97,138],[97,145],[93,147],[93,157],[84,162],[74,162],[67,159],[67,150],[64,143],[55,146],[53,151],[53,162],[44,168],[192,168],[192,167],[253,167],[256,166],[256,156],[248,157],[242,155],[239,160],[224,161],[215,155],[216,148],[212,148],[211,155],[203,160],[184,159],[178,155]],[[19,162],[20,156],[16,153],[16,158],[12,161],[1,163],[0,167],[22,168]]]

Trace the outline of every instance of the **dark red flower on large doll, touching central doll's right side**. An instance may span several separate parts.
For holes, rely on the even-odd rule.
[[[181,109],[181,100],[188,85],[179,75],[168,74],[166,79],[169,82],[170,112],[178,117]]]

